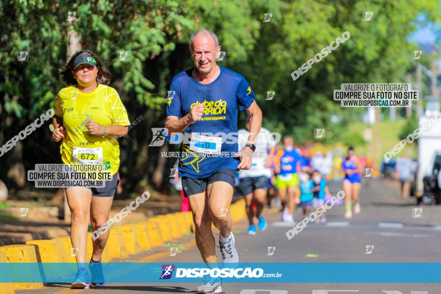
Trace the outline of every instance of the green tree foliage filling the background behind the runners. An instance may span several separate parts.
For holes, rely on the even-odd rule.
[[[439,1],[429,0],[2,1],[0,144],[53,107],[65,87],[58,69],[67,61],[68,12],[76,13],[73,29],[81,34],[82,48],[97,52],[110,69],[110,86],[122,97],[129,118],[145,117],[120,140],[121,175],[134,190],[147,183],[164,187],[167,175],[154,174],[167,173],[175,160],[160,160],[160,149],[148,147],[150,129],[163,126],[171,78],[192,66],[188,40],[194,31],[207,28],[217,34],[227,51],[227,61],[219,65],[250,82],[265,127],[294,135],[296,143],[312,140],[313,129],[325,127],[332,143],[343,138],[354,110],[342,110],[332,100],[333,90],[341,83],[402,82],[414,65],[415,44],[407,38],[416,17],[435,20],[438,7]],[[365,11],[373,12],[372,21],[363,21]],[[272,14],[270,22],[263,23],[265,13]],[[294,70],[345,31],[348,41],[293,81]],[[19,51],[29,52],[28,62],[17,61]],[[126,61],[119,60],[119,52],[127,52]],[[265,100],[267,91],[276,92],[273,100]],[[332,115],[343,120],[332,124]],[[46,127],[20,144],[0,158],[0,178],[9,185],[15,180],[8,171],[17,162],[25,169],[60,162],[58,144]]]

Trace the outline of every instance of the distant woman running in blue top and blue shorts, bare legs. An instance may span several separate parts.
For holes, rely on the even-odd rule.
[[[354,147],[349,147],[348,156],[343,160],[342,169],[345,172],[343,179],[343,191],[345,193],[345,218],[352,217],[352,202],[354,202],[354,213],[360,213],[360,203],[358,202],[358,195],[361,188],[361,172],[362,167],[354,155]]]

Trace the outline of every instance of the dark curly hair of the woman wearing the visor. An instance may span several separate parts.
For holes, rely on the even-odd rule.
[[[73,85],[78,84],[77,80],[75,80],[74,76],[72,75],[72,71],[74,70],[75,58],[79,55],[82,55],[82,54],[89,54],[89,55],[92,55],[93,58],[95,58],[95,60],[97,62],[96,66],[98,69],[97,83],[103,84],[103,85],[108,85],[110,83],[110,78],[112,77],[112,74],[102,64],[101,59],[98,57],[98,55],[96,55],[95,53],[93,53],[90,50],[82,50],[82,51],[79,51],[79,52],[75,53],[74,55],[72,55],[71,59],[69,60],[69,62],[66,65],[66,67],[59,70],[60,75],[61,75],[61,80],[63,82],[65,82],[66,85],[68,85],[68,86],[73,86]]]

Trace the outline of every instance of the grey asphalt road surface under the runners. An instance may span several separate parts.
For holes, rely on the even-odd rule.
[[[340,189],[341,183],[330,184],[333,194]],[[369,185],[364,184],[362,187],[359,215],[347,220],[343,218],[343,206],[333,207],[327,212],[326,224],[308,224],[291,240],[288,240],[285,233],[292,225],[280,222],[281,213],[274,209],[267,210],[265,214],[269,222],[268,230],[258,231],[256,236],[246,234],[248,224],[245,221],[237,223],[233,229],[241,262],[441,262],[441,206],[425,206],[419,217],[414,217],[414,208],[417,208],[414,198],[401,199],[398,190],[397,182],[371,179]],[[295,220],[301,219],[302,213],[298,209]],[[218,233],[215,233],[216,239],[217,236]],[[132,256],[130,260],[167,264],[200,262],[193,239],[194,237],[187,236],[177,240],[176,243],[186,246],[176,256],[161,253],[169,251],[168,247],[164,247]],[[373,250],[366,254],[366,246],[369,245],[373,245]],[[267,255],[269,246],[276,247],[273,255]],[[295,275],[296,272],[291,274]],[[314,272],[310,274],[313,276]],[[357,274],[366,273],[360,271]],[[42,289],[20,290],[16,293],[194,293],[196,286],[196,283],[109,283],[101,289],[72,290],[68,284],[53,284]],[[224,283],[223,290],[225,293],[242,294],[439,294],[441,284],[233,282]]]

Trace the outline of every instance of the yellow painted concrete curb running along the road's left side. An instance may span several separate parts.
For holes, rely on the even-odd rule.
[[[241,199],[230,207],[233,222],[246,217],[245,200]],[[109,239],[103,251],[102,261],[124,259],[131,254],[161,247],[173,239],[194,233],[193,216],[190,211],[174,212],[149,218],[147,221],[115,225],[110,229]],[[111,248],[111,249],[110,249]],[[92,235],[87,234],[87,256],[92,255]],[[0,246],[0,262],[76,262],[69,236],[50,240],[31,240],[26,245]],[[24,273],[20,273],[24,274]],[[4,293],[15,289],[35,289],[43,283],[2,283]]]

